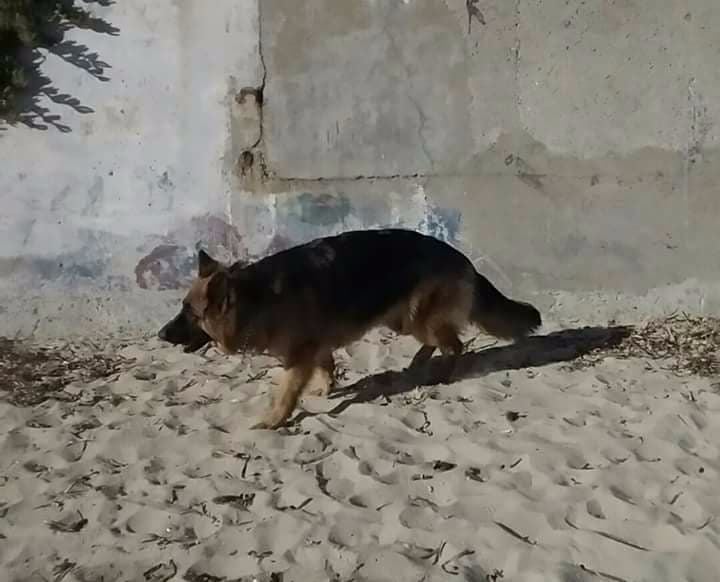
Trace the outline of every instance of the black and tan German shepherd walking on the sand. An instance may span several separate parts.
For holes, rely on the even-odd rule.
[[[198,254],[197,278],[160,339],[196,351],[215,342],[225,353],[266,352],[286,370],[265,418],[274,429],[293,413],[319,375],[319,395],[333,387],[333,350],[385,326],[422,347],[410,369],[436,349],[463,351],[469,325],[519,340],[541,325],[532,305],[514,301],[479,274],[461,252],[404,229],[348,231],[312,240],[255,263],[220,264]]]

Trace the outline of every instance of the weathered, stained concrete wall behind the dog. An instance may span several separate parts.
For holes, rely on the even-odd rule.
[[[0,335],[152,331],[198,244],[383,225],[565,319],[720,309],[715,0],[104,4],[102,74],[49,54],[75,100],[0,130]]]

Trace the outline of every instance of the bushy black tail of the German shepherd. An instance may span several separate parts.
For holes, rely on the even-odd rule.
[[[472,319],[490,335],[508,340],[522,339],[542,325],[535,307],[506,297],[480,273],[475,274]]]

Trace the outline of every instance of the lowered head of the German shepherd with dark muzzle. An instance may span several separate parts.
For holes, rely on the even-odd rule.
[[[158,332],[158,337],[185,352],[196,352],[205,344],[216,341],[222,345],[222,330],[217,318],[227,307],[230,268],[222,265],[205,251],[198,253],[198,273],[183,299],[182,308]]]

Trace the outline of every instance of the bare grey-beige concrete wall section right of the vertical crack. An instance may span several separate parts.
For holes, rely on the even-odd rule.
[[[711,0],[266,0],[261,22],[264,191],[421,192],[547,305],[720,307]]]

